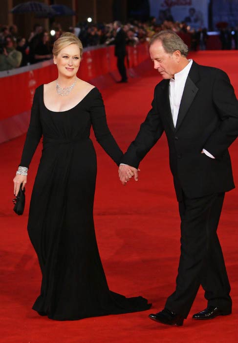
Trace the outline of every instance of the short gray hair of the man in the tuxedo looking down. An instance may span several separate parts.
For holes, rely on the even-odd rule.
[[[182,56],[187,56],[189,52],[188,46],[184,43],[184,41],[172,30],[164,30],[156,33],[150,41],[151,45],[156,42],[160,41],[162,43],[162,47],[164,48],[165,52],[173,53],[174,51],[180,51]]]

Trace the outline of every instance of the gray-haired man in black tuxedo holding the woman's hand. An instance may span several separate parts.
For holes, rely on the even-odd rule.
[[[227,148],[238,135],[238,101],[226,73],[187,60],[187,53],[173,31],[151,39],[151,60],[163,80],[119,167],[123,184],[132,176],[137,180],[140,161],[165,131],[179,202],[181,255],[174,293],[162,311],[149,317],[177,326],[187,318],[200,285],[208,304],[194,319],[232,311],[216,229],[224,194],[235,187]]]

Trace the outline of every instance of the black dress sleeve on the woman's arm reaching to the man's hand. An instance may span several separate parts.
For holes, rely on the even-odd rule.
[[[90,108],[90,116],[93,131],[97,142],[103,147],[112,160],[119,166],[123,156],[122,150],[118,147],[107,124],[105,107],[102,96],[98,90]]]

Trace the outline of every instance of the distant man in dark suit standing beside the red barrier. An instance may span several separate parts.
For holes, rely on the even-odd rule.
[[[117,69],[121,75],[121,80],[119,82],[127,82],[127,71],[125,66],[125,56],[126,51],[126,33],[121,27],[121,23],[116,21],[113,24],[116,31],[116,36],[114,40],[115,44],[115,56],[117,57]]]

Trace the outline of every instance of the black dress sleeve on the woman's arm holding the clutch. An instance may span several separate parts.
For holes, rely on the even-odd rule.
[[[40,122],[39,88],[36,89],[31,108],[31,119],[26,134],[25,144],[22,151],[20,166],[29,168],[32,157],[42,137],[42,125]]]

